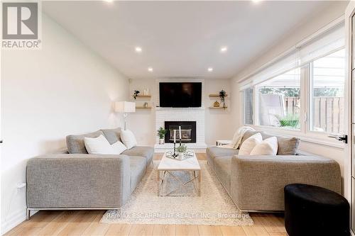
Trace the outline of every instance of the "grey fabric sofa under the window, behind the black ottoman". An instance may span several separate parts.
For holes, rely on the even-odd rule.
[[[242,142],[254,133],[261,133],[263,139],[274,136],[248,131]],[[283,211],[283,188],[287,184],[312,184],[341,193],[342,180],[337,162],[285,145],[289,141],[295,142],[295,138],[276,137],[279,147],[275,156],[239,156],[239,150],[207,148],[207,162],[240,210]]]

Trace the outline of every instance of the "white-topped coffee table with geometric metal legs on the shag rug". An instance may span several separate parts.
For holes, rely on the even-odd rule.
[[[191,178],[182,180],[176,172],[187,171],[191,172]],[[168,193],[164,193],[164,185],[167,178],[171,176],[175,181],[178,182],[178,187],[171,190]],[[195,193],[189,194],[174,194],[179,189],[184,188],[187,184],[191,183],[194,186]],[[201,167],[197,160],[196,154],[189,159],[184,159],[182,161],[178,159],[171,159],[163,155],[163,158],[160,161],[158,166],[158,196],[201,196]]]

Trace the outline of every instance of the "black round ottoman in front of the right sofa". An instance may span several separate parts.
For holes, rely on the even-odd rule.
[[[349,203],[328,189],[285,186],[285,228],[290,236],[349,236]]]

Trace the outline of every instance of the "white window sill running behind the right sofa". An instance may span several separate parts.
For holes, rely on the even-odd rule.
[[[302,142],[309,142],[317,145],[323,145],[326,147],[336,147],[339,149],[344,149],[344,142],[334,140],[332,137],[328,137],[325,133],[315,133],[308,132],[307,134],[302,133],[301,130],[284,129],[277,127],[266,127],[261,125],[249,125],[255,130],[261,130],[266,133],[271,133],[273,135],[283,135],[286,137],[298,137]]]

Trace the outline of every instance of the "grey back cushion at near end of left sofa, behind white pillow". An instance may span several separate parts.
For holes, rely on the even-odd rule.
[[[85,148],[84,137],[99,137],[104,135],[101,130],[94,133],[87,133],[85,135],[67,135],[67,150],[70,154],[87,154]]]

